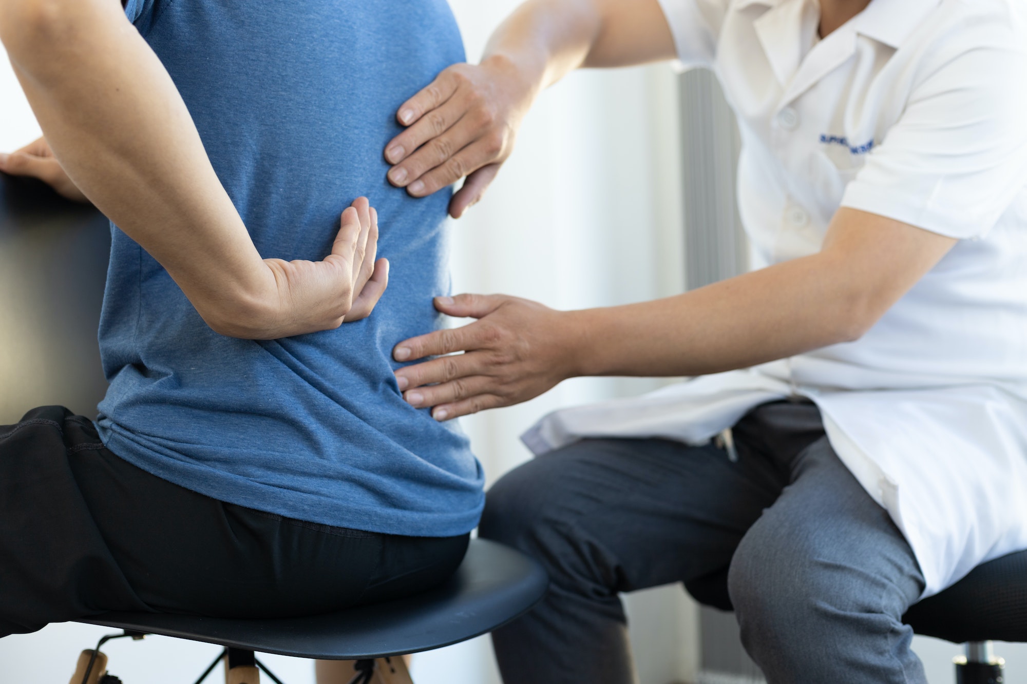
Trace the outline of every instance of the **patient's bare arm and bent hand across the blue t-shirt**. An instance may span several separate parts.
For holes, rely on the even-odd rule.
[[[319,262],[262,259],[160,61],[118,0],[0,0],[0,40],[77,187],[224,335],[274,339],[370,313],[387,282],[359,199]]]

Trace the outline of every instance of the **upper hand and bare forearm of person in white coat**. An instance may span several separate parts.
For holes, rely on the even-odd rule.
[[[545,87],[579,67],[669,60],[657,0],[527,0],[496,29],[478,66],[456,64],[400,106],[407,127],[385,146],[388,180],[425,197],[461,178],[454,219],[482,198]]]

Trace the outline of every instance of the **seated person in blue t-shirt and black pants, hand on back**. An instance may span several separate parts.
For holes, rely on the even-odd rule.
[[[449,197],[392,187],[382,155],[463,60],[445,0],[3,0],[0,39],[45,134],[0,170],[113,233],[99,417],[0,427],[0,636],[447,577],[482,471],[390,350],[439,327]]]

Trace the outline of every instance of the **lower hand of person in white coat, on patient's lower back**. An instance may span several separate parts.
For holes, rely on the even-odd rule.
[[[580,336],[569,312],[505,295],[436,297],[434,304],[447,315],[478,318],[392,350],[397,362],[439,356],[395,372],[407,403],[434,407],[435,420],[527,402],[578,375]]]

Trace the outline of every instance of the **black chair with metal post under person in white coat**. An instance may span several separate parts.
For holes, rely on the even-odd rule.
[[[696,601],[732,610],[727,572],[685,586]],[[965,644],[955,659],[957,684],[1001,684],[1004,661],[992,641],[1027,642],[1027,550],[975,568],[958,582],[912,606],[903,621],[916,634]]]

